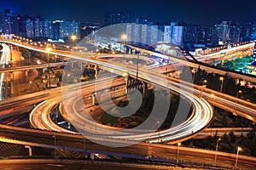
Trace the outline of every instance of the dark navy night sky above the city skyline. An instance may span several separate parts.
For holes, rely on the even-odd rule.
[[[255,0],[1,0],[0,8],[49,20],[103,22],[108,11],[131,10],[154,22],[169,20],[212,25],[218,19],[256,21]]]

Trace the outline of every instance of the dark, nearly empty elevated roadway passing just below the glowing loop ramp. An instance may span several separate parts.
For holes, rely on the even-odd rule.
[[[54,137],[56,139],[56,145]],[[82,152],[84,150],[90,150],[105,155],[137,157],[141,159],[147,156],[161,157],[161,159],[166,160],[177,158],[177,146],[174,145],[139,143],[125,148],[111,148],[104,145],[94,144],[90,142],[90,140],[84,139],[84,136],[82,135],[47,132],[21,127],[10,127],[6,125],[0,125],[0,141]],[[119,140],[119,142],[126,143],[127,141]],[[209,152],[209,150],[199,150],[186,147],[180,147],[179,150],[180,160],[183,161],[196,161],[212,164],[216,154],[218,155],[218,165],[233,167],[236,161],[236,154],[216,152],[213,150]],[[256,168],[255,166],[255,157],[239,156],[238,167],[254,169]]]

